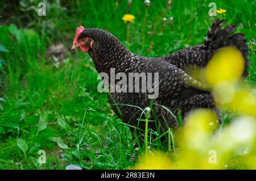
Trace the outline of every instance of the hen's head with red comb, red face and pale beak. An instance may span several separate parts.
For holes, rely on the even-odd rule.
[[[94,40],[90,37],[85,37],[83,35],[85,28],[83,26],[76,28],[76,37],[73,41],[73,46],[71,49],[76,49],[79,47],[82,51],[87,52],[89,48],[92,48]]]

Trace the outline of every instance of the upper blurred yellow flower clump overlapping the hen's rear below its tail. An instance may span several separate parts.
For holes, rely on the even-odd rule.
[[[197,79],[213,87],[214,102],[218,108],[228,108],[242,115],[256,117],[255,91],[250,86],[239,88],[244,68],[244,58],[240,50],[236,47],[225,47],[213,55],[206,69],[195,69],[195,75]],[[203,75],[201,77],[206,80],[199,75]]]

